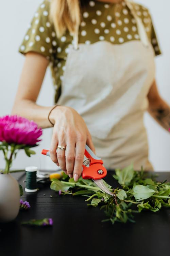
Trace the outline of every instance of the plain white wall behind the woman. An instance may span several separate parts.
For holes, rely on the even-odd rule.
[[[10,114],[18,81],[24,62],[24,57],[18,53],[18,47],[23,39],[35,10],[41,0],[15,0],[1,3],[1,35],[0,35],[0,116]],[[155,29],[163,55],[156,58],[156,79],[161,96],[170,104],[170,1],[138,0],[150,9]],[[47,106],[53,104],[53,87],[48,70],[41,89],[38,104]],[[156,171],[170,171],[170,134],[161,128],[146,114],[150,153],[149,158]],[[42,148],[50,147],[51,129],[44,130],[43,141],[35,148],[36,155],[28,158],[20,152],[13,168],[24,168],[35,165],[41,169],[54,169],[55,164],[50,158],[41,156]],[[4,167],[3,156],[0,152],[0,167]]]

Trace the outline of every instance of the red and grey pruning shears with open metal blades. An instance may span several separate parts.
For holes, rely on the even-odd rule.
[[[49,150],[42,150],[41,154],[50,156]],[[108,173],[106,168],[103,166],[103,160],[97,157],[87,145],[85,146],[81,175],[85,180],[92,179],[103,192],[111,196],[114,196],[114,193],[106,187],[103,181],[112,188],[122,189],[119,182],[110,173]]]

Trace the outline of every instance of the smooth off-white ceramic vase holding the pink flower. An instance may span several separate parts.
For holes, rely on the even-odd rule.
[[[19,212],[19,184],[11,174],[0,173],[0,222],[10,222]]]

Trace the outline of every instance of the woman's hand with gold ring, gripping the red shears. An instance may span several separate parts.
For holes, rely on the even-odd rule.
[[[50,156],[70,178],[77,181],[82,172],[85,144],[95,153],[91,135],[83,118],[74,109],[57,106],[50,114],[55,123],[51,140]],[[65,150],[57,150],[57,146],[66,146]],[[75,153],[75,155],[74,155]]]

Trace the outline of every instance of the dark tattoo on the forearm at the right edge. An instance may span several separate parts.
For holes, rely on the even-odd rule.
[[[170,128],[170,108],[160,105],[158,108],[150,109],[150,114],[166,130]]]

